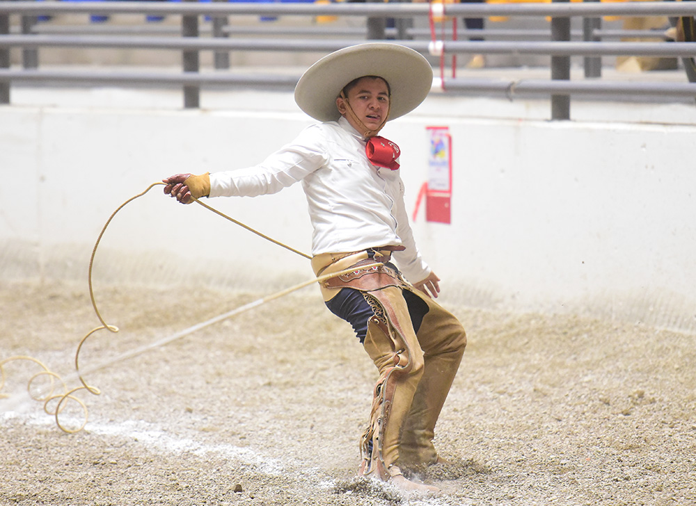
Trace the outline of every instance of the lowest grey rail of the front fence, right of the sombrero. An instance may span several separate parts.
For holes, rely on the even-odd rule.
[[[635,83],[619,81],[546,81],[520,79],[500,81],[494,79],[445,79],[448,91],[481,93],[499,92],[508,97],[522,95],[573,95],[573,96],[651,96],[695,98],[696,83]]]

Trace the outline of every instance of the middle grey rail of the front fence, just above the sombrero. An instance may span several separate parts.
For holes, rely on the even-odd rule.
[[[336,51],[365,40],[236,39],[193,37],[118,37],[91,35],[0,35],[0,47],[89,47],[212,51]],[[427,53],[432,42],[392,40]],[[691,42],[503,42],[445,41],[445,54],[535,54],[546,56],[696,56]]]

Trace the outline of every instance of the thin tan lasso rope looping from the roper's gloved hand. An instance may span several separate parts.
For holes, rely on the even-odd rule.
[[[95,300],[94,296],[94,288],[93,288],[93,282],[92,282],[92,277],[93,277],[93,266],[94,266],[94,259],[95,255],[97,253],[97,247],[99,247],[102,237],[104,236],[104,232],[106,232],[106,229],[109,227],[111,224],[111,221],[113,218],[118,214],[118,212],[123,209],[127,204],[130,202],[133,202],[135,199],[138,199],[139,197],[142,197],[146,193],[148,193],[152,188],[155,186],[159,185],[164,185],[164,183],[157,182],[157,183],[152,183],[148,188],[146,188],[143,192],[134,195],[133,197],[130,197],[127,199],[125,202],[123,202],[120,206],[116,208],[113,213],[109,216],[109,219],[106,220],[106,223],[104,223],[104,227],[102,227],[102,230],[100,231],[99,236],[97,236],[97,240],[95,242],[95,245],[92,249],[92,254],[90,255],[90,261],[89,261],[89,269],[88,269],[88,285],[89,285],[89,295],[90,295],[90,301],[92,303],[92,307],[95,311],[95,314],[97,315],[97,318],[99,319],[100,325],[99,327],[95,327],[94,329],[90,330],[81,340],[79,341],[79,344],[77,345],[77,350],[75,352],[75,372],[77,375],[77,379],[79,379],[79,382],[81,383],[81,386],[77,386],[74,389],[68,389],[68,385],[65,383],[65,381],[56,373],[53,373],[49,368],[47,368],[44,364],[42,364],[41,361],[38,359],[35,359],[33,357],[28,357],[26,355],[18,355],[15,357],[10,357],[8,359],[5,359],[3,361],[0,361],[0,392],[2,391],[3,387],[6,384],[6,373],[3,368],[6,364],[9,364],[12,361],[18,361],[18,360],[26,360],[26,361],[31,361],[34,364],[37,364],[40,366],[42,370],[40,370],[39,373],[36,373],[35,375],[31,376],[29,378],[29,382],[27,383],[27,392],[29,393],[29,396],[33,400],[37,400],[40,402],[44,402],[44,411],[51,415],[54,416],[56,419],[56,425],[63,430],[63,432],[68,432],[69,434],[74,434],[76,432],[80,432],[81,430],[84,429],[84,427],[87,425],[88,421],[88,409],[87,405],[83,400],[75,396],[74,394],[81,391],[81,390],[86,390],[89,393],[92,393],[93,395],[100,395],[101,391],[97,389],[95,386],[90,386],[86,380],[84,379],[84,374],[86,373],[92,373],[95,370],[100,370],[106,367],[109,367],[113,364],[116,364],[117,362],[124,361],[127,359],[132,359],[133,357],[136,357],[140,354],[143,354],[144,352],[147,352],[148,350],[152,350],[154,348],[159,348],[162,345],[166,345],[167,343],[171,343],[172,341],[176,341],[177,339],[183,338],[184,336],[188,336],[189,334],[193,334],[193,332],[197,332],[200,329],[204,329],[205,327],[209,327],[210,325],[214,325],[215,323],[219,323],[222,320],[226,320],[228,318],[232,318],[232,316],[237,316],[239,313],[244,313],[245,311],[248,311],[250,309],[253,309],[255,307],[259,307],[262,304],[265,304],[267,302],[270,302],[271,300],[276,300],[280,297],[283,297],[285,295],[288,295],[294,291],[297,291],[301,288],[304,288],[306,286],[309,286],[311,284],[315,283],[321,283],[322,281],[326,281],[326,279],[330,279],[332,277],[338,277],[340,275],[345,275],[348,274],[349,272],[354,272],[354,268],[348,268],[345,270],[340,270],[338,272],[331,272],[331,274],[327,275],[322,275],[319,277],[315,277],[312,279],[308,279],[307,281],[303,281],[299,284],[296,284],[294,286],[291,286],[290,288],[285,288],[284,290],[278,291],[276,293],[272,293],[271,295],[267,295],[265,297],[261,297],[258,300],[255,300],[253,302],[249,302],[248,304],[244,304],[241,307],[237,307],[236,309],[232,309],[231,311],[228,311],[226,313],[223,313],[219,316],[215,316],[214,318],[210,318],[209,320],[206,320],[205,322],[198,323],[196,325],[192,325],[191,327],[188,327],[187,329],[184,329],[180,332],[176,332],[175,334],[172,334],[171,336],[166,336],[164,338],[158,339],[157,341],[153,341],[152,343],[148,343],[142,346],[139,346],[137,348],[133,348],[132,350],[129,350],[127,352],[123,352],[122,354],[117,355],[116,357],[112,357],[109,360],[103,361],[100,364],[95,364],[89,368],[84,368],[80,369],[79,366],[79,356],[80,352],[82,350],[82,347],[84,343],[90,338],[90,336],[93,336],[96,332],[100,330],[108,330],[109,332],[113,332],[116,334],[119,332],[118,327],[115,325],[109,325],[106,323],[104,318],[102,317],[102,314],[99,311],[99,308],[97,307],[97,302]],[[273,238],[270,238],[269,236],[266,236],[264,234],[261,234],[259,231],[248,227],[248,225],[244,225],[244,223],[239,222],[238,220],[235,220],[234,218],[231,218],[230,216],[226,215],[225,213],[222,213],[221,211],[218,211],[217,209],[214,209],[211,206],[208,206],[207,204],[204,204],[203,202],[200,202],[200,200],[196,199],[195,197],[191,197],[197,204],[200,204],[201,206],[205,207],[208,211],[212,211],[213,213],[225,218],[226,220],[229,220],[232,223],[235,223],[235,225],[239,225],[240,227],[243,227],[244,229],[253,232],[253,234],[256,234],[260,236],[261,238],[264,238],[266,240],[269,240],[271,243],[274,243],[280,247],[284,247],[286,250],[290,250],[291,252],[294,252],[296,254],[299,254],[300,256],[305,257],[306,259],[311,259],[312,257],[306,253],[300,252],[299,250],[295,250],[294,248],[285,245],[283,243],[280,243],[280,241],[275,240]],[[377,268],[378,266],[381,266],[382,264],[380,262],[375,262],[375,263],[370,263],[369,265],[366,266],[361,266],[361,270],[369,270],[373,268]],[[38,377],[41,376],[47,376],[50,379],[50,384],[49,384],[49,391],[43,395],[40,393],[35,393],[32,388],[32,384],[37,379]],[[60,382],[62,385],[62,391],[61,393],[56,393],[56,382]],[[0,393],[0,398],[1,397],[6,397],[6,395],[3,395]],[[61,423],[60,419],[60,414],[61,412],[65,409],[65,405],[68,401],[73,401],[77,402],[77,404],[82,408],[82,411],[84,411],[84,421],[82,421],[81,425],[77,428],[69,428],[63,423]],[[53,406],[53,402],[55,402],[55,406]]]

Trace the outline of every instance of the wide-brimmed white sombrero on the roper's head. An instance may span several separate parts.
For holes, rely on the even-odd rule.
[[[389,119],[410,113],[425,100],[432,67],[418,51],[388,42],[368,42],[339,49],[309,67],[295,86],[297,105],[319,121],[340,117],[336,97],[349,82],[379,76],[389,83]]]

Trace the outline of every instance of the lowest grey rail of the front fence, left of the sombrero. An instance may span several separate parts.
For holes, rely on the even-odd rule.
[[[15,70],[0,69],[0,82],[73,83],[84,85],[229,85],[271,86],[292,90],[299,76],[281,74],[214,74],[184,72],[90,72],[81,70]]]

